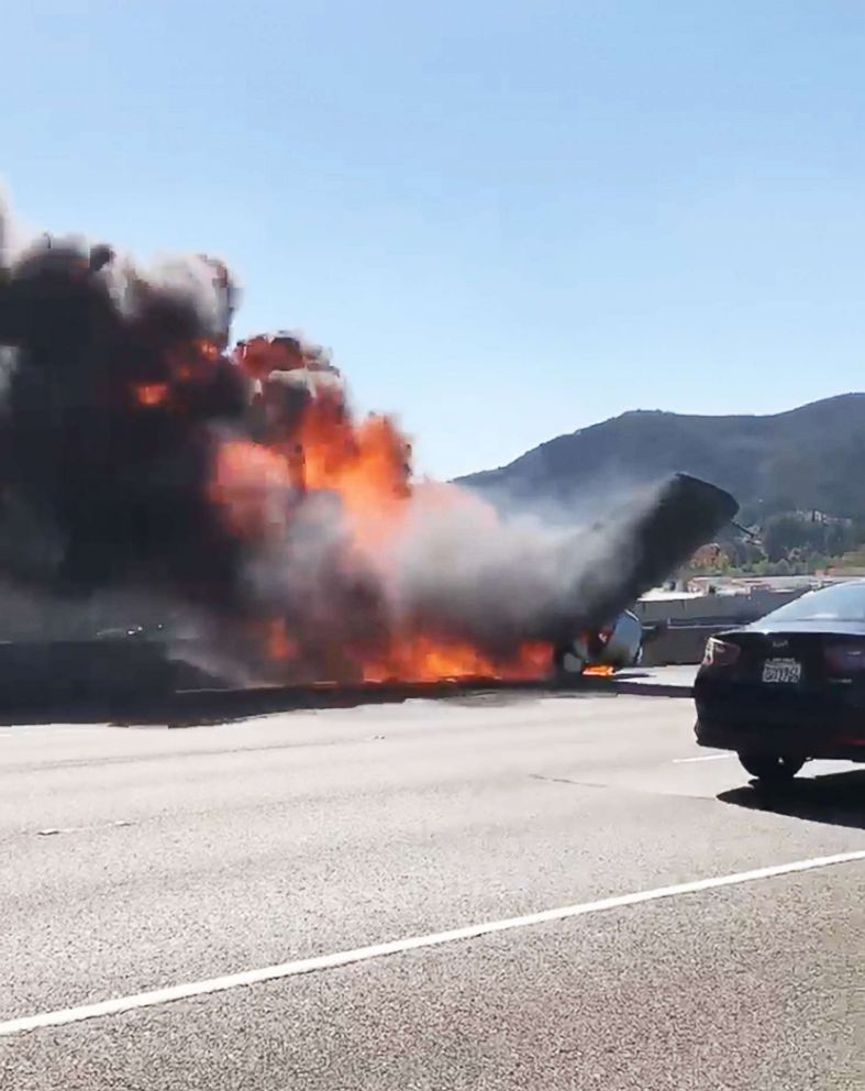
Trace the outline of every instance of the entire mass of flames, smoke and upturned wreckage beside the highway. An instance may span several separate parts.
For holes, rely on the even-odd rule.
[[[589,528],[502,518],[413,478],[395,421],[356,419],[321,349],[230,348],[221,263],[142,271],[55,240],[11,255],[4,222],[9,701],[27,684],[537,679],[566,653],[580,669],[735,515],[677,475]]]

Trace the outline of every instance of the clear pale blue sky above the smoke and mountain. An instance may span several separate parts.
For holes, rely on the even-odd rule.
[[[426,472],[865,387],[858,0],[37,0],[3,45],[20,212],[220,254]]]

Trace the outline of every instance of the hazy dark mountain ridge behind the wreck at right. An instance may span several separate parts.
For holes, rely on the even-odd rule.
[[[599,480],[640,485],[681,471],[730,489],[747,519],[814,509],[865,519],[865,393],[777,414],[631,409],[457,478],[494,503],[572,503]]]

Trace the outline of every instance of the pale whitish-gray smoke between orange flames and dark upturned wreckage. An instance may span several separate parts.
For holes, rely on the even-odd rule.
[[[633,562],[626,531],[621,519],[563,528],[502,517],[455,486],[419,484],[386,529],[358,535],[336,496],[311,494],[251,554],[249,592],[312,642],[424,633],[507,660],[616,589]]]

